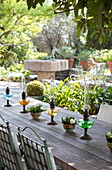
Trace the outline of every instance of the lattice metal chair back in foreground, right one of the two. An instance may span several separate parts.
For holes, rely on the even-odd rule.
[[[26,127],[23,130],[20,130],[19,128],[18,137],[20,139],[20,144],[22,146],[22,151],[28,170],[56,170],[54,158],[48,149],[46,140],[42,140],[32,128],[30,129],[42,143],[37,141],[35,142],[26,137],[22,134],[22,131],[27,128],[30,127]]]

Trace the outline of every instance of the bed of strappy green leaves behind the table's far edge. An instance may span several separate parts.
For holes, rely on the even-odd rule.
[[[49,102],[50,85],[46,83],[45,94],[43,101]],[[83,113],[82,107],[84,105],[84,91],[78,83],[70,83],[67,80],[60,81],[59,85],[53,87],[55,96],[55,103],[59,107],[72,110],[74,112]],[[89,90],[89,105],[90,114],[97,114],[100,104],[106,99],[112,98],[112,87],[106,89],[100,88],[97,85]]]

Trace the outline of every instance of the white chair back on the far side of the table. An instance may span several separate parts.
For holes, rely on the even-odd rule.
[[[101,104],[97,119],[112,124],[112,105]]]

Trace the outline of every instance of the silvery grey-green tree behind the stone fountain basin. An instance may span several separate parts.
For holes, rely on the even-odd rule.
[[[49,55],[60,46],[78,46],[76,35],[76,23],[70,21],[70,17],[59,14],[43,26],[42,31],[33,38],[33,43],[38,51],[47,52]],[[41,42],[41,43],[40,43]],[[78,47],[77,47],[78,48]]]

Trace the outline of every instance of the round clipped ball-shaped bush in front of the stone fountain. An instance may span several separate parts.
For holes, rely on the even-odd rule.
[[[28,96],[42,96],[44,94],[44,85],[37,81],[31,81],[26,85],[26,91]]]

